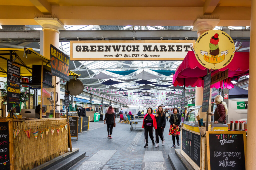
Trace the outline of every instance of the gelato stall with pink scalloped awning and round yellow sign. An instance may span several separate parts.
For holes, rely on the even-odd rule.
[[[231,89],[231,79],[249,73],[249,53],[236,52],[233,44],[225,32],[207,31],[173,76],[174,86],[204,87],[202,106],[188,109],[181,130],[181,154],[194,169],[245,169],[246,132],[230,132],[227,124],[214,124],[208,114],[210,88]]]

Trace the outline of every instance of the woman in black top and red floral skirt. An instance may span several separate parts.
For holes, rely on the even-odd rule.
[[[173,136],[173,146],[171,148],[175,148],[175,137],[177,140],[177,145],[179,146],[179,124],[181,122],[181,115],[178,114],[178,108],[173,109],[173,114],[170,116],[170,129],[169,129],[169,135]]]

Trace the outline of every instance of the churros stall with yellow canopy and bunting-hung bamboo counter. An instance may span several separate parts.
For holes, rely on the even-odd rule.
[[[7,77],[0,117],[0,137],[4,141],[1,154],[5,158],[0,161],[0,169],[32,169],[68,152],[68,147],[72,151],[68,119],[60,118],[56,76],[51,71],[52,65],[60,61],[50,61],[30,48],[2,48],[0,60],[0,76]],[[71,73],[66,75],[69,78]],[[22,76],[32,80],[22,83]],[[20,108],[21,85],[41,89],[38,106]]]

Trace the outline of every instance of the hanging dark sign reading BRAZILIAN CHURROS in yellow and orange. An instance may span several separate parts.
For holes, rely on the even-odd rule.
[[[50,45],[51,74],[69,81],[69,59],[58,48]]]

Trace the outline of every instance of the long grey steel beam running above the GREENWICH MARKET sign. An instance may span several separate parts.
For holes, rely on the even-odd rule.
[[[234,41],[250,41],[250,30],[230,30]],[[60,31],[59,41],[79,40],[196,40],[196,31],[191,30],[93,30]],[[40,31],[0,31],[0,42],[40,42]]]

